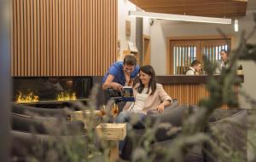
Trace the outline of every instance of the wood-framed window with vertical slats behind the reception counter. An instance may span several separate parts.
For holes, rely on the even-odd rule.
[[[172,75],[183,74],[192,61],[202,61],[203,55],[215,63],[220,60],[221,49],[230,49],[230,38],[169,38],[168,43],[167,71]]]

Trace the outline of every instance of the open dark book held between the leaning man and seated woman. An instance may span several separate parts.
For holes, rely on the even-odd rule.
[[[108,89],[108,95],[110,99],[115,101],[135,101],[132,87],[123,87],[122,91]]]

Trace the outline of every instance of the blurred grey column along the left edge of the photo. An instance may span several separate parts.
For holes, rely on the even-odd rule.
[[[9,161],[11,1],[0,0],[0,161]]]

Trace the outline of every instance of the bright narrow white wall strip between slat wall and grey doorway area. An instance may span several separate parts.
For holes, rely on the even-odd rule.
[[[128,0],[118,0],[118,40],[120,41],[120,55],[123,58],[123,50],[128,49],[127,41],[136,43],[136,18],[129,16],[129,10],[135,10],[136,6]],[[125,35],[125,20],[131,21],[131,36]]]

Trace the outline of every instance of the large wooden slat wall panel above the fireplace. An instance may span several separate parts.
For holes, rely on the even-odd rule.
[[[13,0],[12,76],[102,76],[116,61],[117,0]]]

